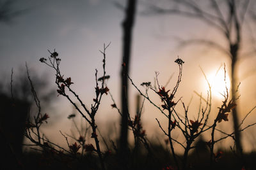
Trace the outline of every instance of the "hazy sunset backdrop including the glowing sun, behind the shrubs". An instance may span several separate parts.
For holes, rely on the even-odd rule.
[[[118,0],[22,0],[0,1],[0,73],[1,90],[10,95],[10,81],[13,68],[13,88],[16,89],[14,97],[25,99],[29,96],[29,85],[24,85],[26,67],[28,65],[32,80],[37,83],[38,97],[44,101],[43,111],[49,114],[48,124],[44,125],[45,135],[52,141],[65,145],[65,139],[60,134],[74,131],[74,124],[68,120],[68,115],[76,113],[72,105],[63,96],[57,97],[55,73],[42,64],[39,59],[48,57],[56,50],[61,57],[61,72],[65,77],[71,77],[73,89],[79,94],[88,108],[95,97],[95,69],[99,77],[102,73],[103,56],[99,50],[103,45],[111,42],[106,50],[106,74],[109,92],[113,95],[116,105],[120,108],[120,71],[122,65],[122,22],[124,20],[125,1]],[[203,9],[211,6],[204,1],[196,1]],[[179,3],[178,3],[179,4]],[[177,92],[177,100],[182,97],[185,104],[190,104],[189,114],[191,119],[196,117],[200,104],[200,97],[195,92],[207,97],[207,81],[212,84],[212,117],[221,105],[220,93],[225,90],[224,64],[227,70],[227,87],[230,88],[230,57],[223,54],[220,49],[212,48],[214,45],[203,43],[188,43],[190,39],[209,39],[229,48],[216,27],[198,20],[196,17],[176,15],[161,11],[161,8],[175,8],[177,4],[170,1],[138,1],[136,19],[132,34],[132,52],[130,73],[132,80],[138,87],[145,81],[154,83],[155,71],[159,72],[160,85],[172,89],[177,81],[179,67],[174,60],[179,56],[184,60],[182,81]],[[243,4],[239,4],[243,5]],[[255,67],[255,30],[256,18],[253,10],[255,1],[250,1],[244,15],[243,36],[237,60],[237,82],[239,87],[239,101],[237,101],[238,117],[243,117],[256,106],[256,67]],[[223,7],[223,8],[222,8]],[[225,4],[220,2],[223,15],[228,13]],[[182,10],[182,8],[176,8]],[[185,9],[186,10],[186,9]],[[227,13],[226,13],[227,12]],[[3,19],[2,19],[3,18]],[[189,45],[187,45],[188,43]],[[250,52],[250,53],[248,53]],[[242,54],[246,53],[246,57]],[[204,73],[202,72],[202,70]],[[217,74],[216,74],[217,73]],[[20,87],[21,89],[19,89]],[[131,86],[130,113],[136,113],[137,90]],[[23,93],[24,92],[24,93]],[[159,106],[161,100],[154,92],[149,93]],[[16,95],[16,96],[15,96]],[[33,99],[27,99],[33,103]],[[141,99],[142,100],[142,99]],[[104,96],[99,112],[97,124],[102,129],[102,134],[116,138],[119,136],[120,115],[111,107],[111,97]],[[182,113],[182,109],[180,109]],[[76,113],[76,121],[81,118]],[[155,118],[164,124],[166,120],[150,103],[145,101],[142,112],[143,128],[148,138],[161,139],[164,135],[160,131]],[[230,121],[221,122],[220,129],[232,132],[232,117]],[[244,122],[244,127],[255,122],[255,111]],[[164,126],[164,125],[163,125]],[[251,127],[243,132],[244,151],[255,150],[256,127]],[[179,138],[179,133],[176,134]],[[221,136],[221,134],[219,134]],[[207,136],[205,136],[207,139]],[[161,141],[162,140],[162,141]],[[223,141],[220,146],[229,147],[230,141]]]

